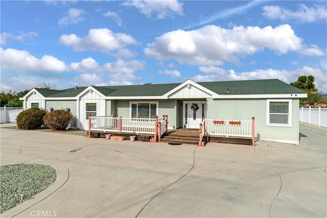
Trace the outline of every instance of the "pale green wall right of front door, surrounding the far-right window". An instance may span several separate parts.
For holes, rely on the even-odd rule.
[[[269,99],[270,100],[270,99]],[[274,100],[274,99],[271,99]],[[276,100],[278,101],[278,100]],[[255,117],[255,137],[262,140],[298,143],[299,100],[292,100],[291,127],[267,126],[267,99],[207,99],[207,119],[251,120]],[[282,140],[283,139],[283,140]]]

